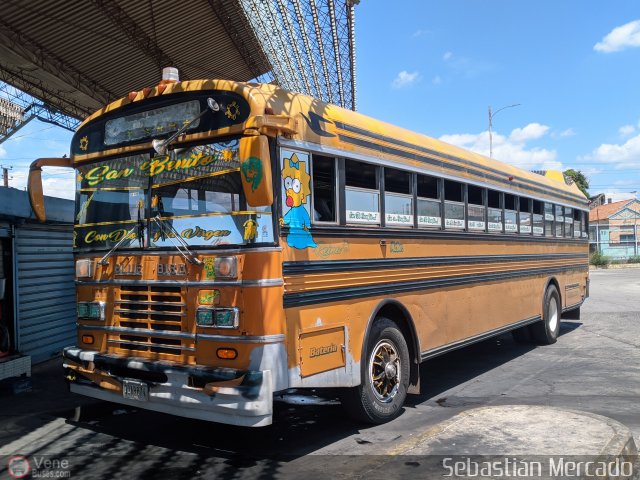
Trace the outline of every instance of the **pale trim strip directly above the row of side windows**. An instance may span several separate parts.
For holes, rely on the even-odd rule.
[[[278,146],[280,147],[286,147],[286,148],[298,148],[298,149],[302,149],[302,150],[306,150],[309,151],[311,153],[321,153],[324,155],[333,155],[333,156],[338,156],[338,157],[344,157],[344,158],[350,158],[353,160],[360,160],[363,162],[368,162],[368,163],[373,163],[375,165],[382,165],[385,167],[393,167],[393,168],[397,168],[400,170],[406,170],[408,172],[416,172],[416,173],[424,173],[426,175],[431,175],[431,176],[435,176],[435,177],[440,177],[440,178],[446,178],[447,180],[454,180],[456,182],[464,182],[467,183],[469,185],[476,185],[479,187],[484,187],[484,188],[490,188],[492,190],[499,190],[501,192],[507,192],[507,193],[511,193],[513,195],[518,195],[518,196],[523,196],[522,192],[519,192],[517,190],[513,190],[510,188],[504,188],[502,186],[497,186],[491,183],[484,183],[484,182],[479,182],[477,180],[472,180],[472,179],[467,179],[464,177],[457,177],[455,175],[451,175],[451,174],[447,174],[447,173],[442,173],[436,170],[432,170],[429,168],[424,168],[422,166],[418,166],[418,165],[406,165],[406,164],[402,164],[400,162],[394,162],[394,161],[389,161],[389,160],[385,160],[383,158],[379,158],[379,157],[374,157],[373,155],[365,155],[362,153],[356,153],[356,152],[352,152],[352,151],[347,151],[347,150],[341,150],[338,148],[333,148],[333,147],[326,147],[324,145],[319,145],[316,143],[311,143],[311,142],[304,142],[304,141],[300,141],[300,140],[289,140],[289,139],[285,139],[282,137],[278,137]],[[569,192],[567,192],[567,194],[569,194]],[[551,196],[554,196],[554,194],[550,194]],[[534,200],[539,200],[541,202],[547,202],[547,203],[553,203],[555,205],[562,205],[564,207],[569,207],[569,208],[579,208],[580,210],[586,211],[584,210],[584,206],[580,206],[580,207],[576,207],[577,203],[575,204],[571,204],[571,203],[561,203],[557,200],[549,200],[548,198],[542,198],[542,197],[537,197],[535,194],[530,194],[529,192],[526,193],[527,198],[533,198]]]

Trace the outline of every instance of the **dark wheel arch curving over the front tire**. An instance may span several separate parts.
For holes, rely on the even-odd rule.
[[[393,299],[385,299],[376,305],[376,308],[369,316],[367,328],[364,332],[362,352],[366,351],[371,328],[379,316],[386,317],[398,325],[398,328],[407,340],[409,358],[411,359],[408,393],[420,393],[420,341],[418,340],[413,318],[402,303]]]

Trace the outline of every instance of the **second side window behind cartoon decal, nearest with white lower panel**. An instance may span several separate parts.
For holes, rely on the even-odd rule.
[[[380,224],[379,169],[375,165],[345,161],[347,223]]]

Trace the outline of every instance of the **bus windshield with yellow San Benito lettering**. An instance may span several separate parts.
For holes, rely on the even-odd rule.
[[[78,167],[76,250],[171,248],[178,235],[194,247],[273,243],[271,207],[244,199],[237,139]]]

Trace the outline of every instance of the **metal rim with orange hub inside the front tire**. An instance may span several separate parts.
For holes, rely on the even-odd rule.
[[[397,347],[381,340],[369,358],[369,383],[381,402],[391,402],[400,388],[400,356]]]

